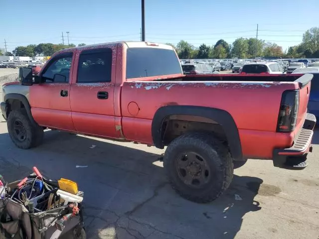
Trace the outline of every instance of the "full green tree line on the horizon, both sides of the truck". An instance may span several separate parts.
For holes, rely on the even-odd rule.
[[[299,45],[289,47],[288,51],[276,43],[266,42],[256,38],[237,38],[232,44],[220,39],[215,45],[209,46],[205,43],[194,47],[185,40],[176,45],[167,43],[174,47],[180,59],[204,59],[204,58],[254,58],[260,56],[279,56],[284,58],[319,58],[319,27],[313,27],[303,34],[303,40]],[[84,46],[84,43],[78,46]],[[51,56],[61,49],[75,47],[74,44],[52,44],[41,43],[38,45],[18,46],[12,53],[5,52],[0,55],[15,56]]]

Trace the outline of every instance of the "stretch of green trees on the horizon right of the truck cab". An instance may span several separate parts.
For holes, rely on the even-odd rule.
[[[181,40],[173,46],[180,59],[205,58],[254,58],[262,56],[279,56],[284,58],[319,58],[319,27],[307,30],[299,45],[289,47],[288,51],[276,43],[266,42],[256,38],[237,38],[232,44],[220,39],[215,45],[205,43],[198,48],[187,41]]]

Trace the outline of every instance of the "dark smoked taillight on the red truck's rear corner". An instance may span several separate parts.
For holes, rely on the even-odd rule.
[[[277,132],[292,132],[296,127],[299,108],[299,90],[284,91],[277,123]]]

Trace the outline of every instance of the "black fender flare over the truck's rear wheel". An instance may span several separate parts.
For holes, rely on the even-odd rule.
[[[187,115],[213,120],[220,124],[227,137],[229,149],[234,160],[244,160],[237,125],[232,116],[224,110],[200,106],[164,106],[157,110],[152,121],[154,145],[164,148],[162,125],[172,115]]]

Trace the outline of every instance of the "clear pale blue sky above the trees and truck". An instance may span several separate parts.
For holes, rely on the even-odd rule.
[[[311,7],[313,6],[313,7]],[[319,26],[318,0],[145,0],[146,40],[198,47],[256,37],[288,50]],[[141,0],[1,0],[0,48],[141,38]]]

